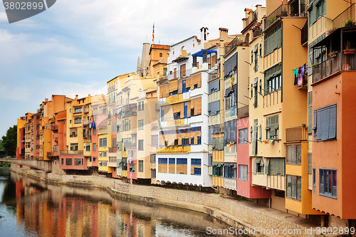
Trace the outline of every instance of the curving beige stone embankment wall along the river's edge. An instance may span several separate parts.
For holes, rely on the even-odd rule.
[[[231,196],[159,186],[131,185],[120,179],[107,177],[52,174],[20,168],[16,164],[11,164],[11,171],[50,184],[98,187],[107,190],[114,197],[199,211],[233,226],[236,233],[245,233],[248,236],[322,236],[317,233],[318,226],[304,218],[258,206],[249,201],[239,201]]]

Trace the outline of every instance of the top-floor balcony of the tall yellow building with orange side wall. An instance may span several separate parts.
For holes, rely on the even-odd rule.
[[[307,5],[298,4],[298,1],[294,1],[292,4],[279,6],[264,20],[264,30],[283,16],[307,16]]]

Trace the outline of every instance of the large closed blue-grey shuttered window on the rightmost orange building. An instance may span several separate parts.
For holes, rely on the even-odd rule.
[[[313,130],[317,140],[336,139],[336,105],[314,110]]]

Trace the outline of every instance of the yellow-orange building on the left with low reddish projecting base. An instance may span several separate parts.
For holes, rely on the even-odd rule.
[[[91,167],[91,96],[66,102],[66,148],[59,152],[59,168],[66,174],[89,172]],[[89,126],[90,125],[90,126]]]

